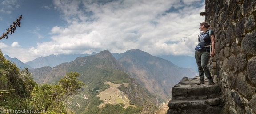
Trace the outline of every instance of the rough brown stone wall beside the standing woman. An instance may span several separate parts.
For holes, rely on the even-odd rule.
[[[256,0],[205,0],[217,84],[229,114],[256,114]]]

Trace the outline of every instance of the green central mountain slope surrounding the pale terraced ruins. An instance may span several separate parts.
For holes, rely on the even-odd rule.
[[[62,65],[60,66],[63,68]],[[122,110],[124,110],[124,114],[127,114],[125,112],[132,112],[129,110],[142,111],[143,108],[148,107],[144,105],[144,102],[146,101],[151,102],[153,105],[157,103],[156,96],[149,95],[127,73],[125,73],[123,70],[119,70],[122,68],[119,66],[118,61],[112,57],[111,53],[108,51],[100,52],[96,55],[88,57],[78,57],[75,61],[72,61],[65,66],[67,66],[67,68],[63,69],[68,70],[68,72],[78,72],[80,74],[79,80],[86,84],[86,87],[83,87],[80,90],[79,95],[72,96],[72,103],[68,104],[68,107],[76,114],[104,114],[102,112],[103,110],[107,111],[108,109],[116,109],[115,105],[108,105],[108,107],[112,108],[107,109],[104,107],[98,107],[104,103],[105,100],[108,100],[108,97],[111,96],[106,96],[105,100],[100,100],[100,97],[98,97],[100,92],[105,91],[110,87],[108,84],[105,84],[105,82],[111,82],[115,84],[128,84],[128,87],[121,85],[121,89],[118,89],[124,92],[124,94],[128,95],[130,105],[135,105],[136,108],[129,107],[125,109],[124,107],[127,106],[122,106],[120,103],[117,103],[116,105],[120,105],[123,108]],[[55,74],[55,72],[52,74]],[[112,93],[112,96],[113,95],[115,95],[115,93]],[[106,102],[106,104],[108,104],[108,102]],[[155,109],[156,108],[154,108],[154,110]],[[115,112],[118,112],[118,110]]]

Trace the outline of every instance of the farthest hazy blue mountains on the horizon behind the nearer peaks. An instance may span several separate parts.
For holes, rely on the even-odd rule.
[[[40,68],[40,67],[55,67],[56,65],[59,65],[61,63],[65,62],[70,62],[75,60],[77,57],[84,57],[84,56],[90,56],[90,55],[95,55],[96,53],[93,52],[91,54],[60,54],[60,55],[49,55],[45,57],[38,57],[32,61],[28,61],[26,63],[21,62],[17,58],[11,58],[8,55],[4,55],[4,57],[14,63],[16,63],[17,67],[20,69],[29,68],[29,69],[34,69],[34,68]],[[112,55],[118,60],[122,54],[124,53],[112,53]],[[173,64],[177,65],[178,67],[182,68],[192,68],[196,74],[198,75],[198,69],[196,65],[196,60],[195,57],[191,56],[175,56],[175,55],[164,55],[164,56],[156,56],[160,57],[163,59],[166,59]]]

